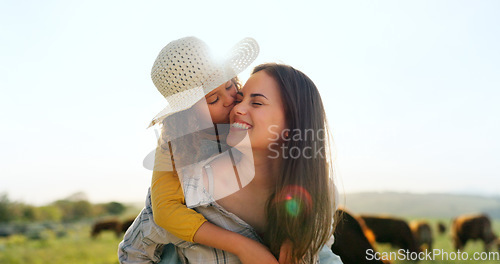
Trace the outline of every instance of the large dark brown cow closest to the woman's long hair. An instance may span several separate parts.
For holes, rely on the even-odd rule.
[[[337,213],[340,217],[334,233],[335,243],[331,249],[344,264],[390,263],[376,259],[369,260],[367,252],[376,252],[373,245],[375,238],[362,219],[353,216],[345,209],[339,209]]]

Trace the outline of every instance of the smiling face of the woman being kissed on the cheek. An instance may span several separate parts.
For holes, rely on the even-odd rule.
[[[236,95],[230,114],[230,146],[238,144],[248,133],[252,149],[268,150],[286,128],[285,110],[278,83],[265,71],[254,73]]]

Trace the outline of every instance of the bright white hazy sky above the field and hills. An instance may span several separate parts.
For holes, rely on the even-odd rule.
[[[0,193],[141,201],[170,41],[244,37],[319,87],[351,191],[500,193],[498,1],[0,3]],[[248,71],[241,77],[248,78]]]

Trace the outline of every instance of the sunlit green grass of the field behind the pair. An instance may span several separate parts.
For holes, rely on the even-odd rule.
[[[438,221],[436,219],[428,220],[432,226]],[[449,224],[449,223],[447,223]],[[500,221],[495,221],[494,228],[497,234],[500,234]],[[21,264],[21,263],[92,263],[92,264],[116,264],[117,246],[121,238],[117,238],[113,233],[104,232],[97,239],[90,237],[90,224],[75,224],[65,228],[63,234],[51,230],[45,230],[38,239],[28,239],[22,235],[15,235],[9,238],[0,238],[0,263],[2,264]],[[445,252],[453,252],[453,246],[448,233],[436,235],[434,248],[442,249]],[[388,245],[379,245],[379,252],[390,252]],[[468,243],[465,250],[469,257],[474,252],[483,252],[483,244],[479,242]],[[412,261],[394,261],[393,263],[414,263]],[[498,264],[500,260],[477,260],[477,261],[458,261],[442,260],[437,258],[435,261],[420,261],[419,263],[479,263],[479,264]]]

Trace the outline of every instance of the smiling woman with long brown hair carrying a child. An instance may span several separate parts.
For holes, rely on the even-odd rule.
[[[326,248],[327,263],[341,263],[325,247],[332,234],[334,188],[326,117],[314,83],[290,66],[264,64],[254,69],[236,102],[227,143],[245,153],[249,140],[255,177],[239,191],[195,210],[214,224],[268,245],[280,262],[314,263]],[[231,152],[237,151],[229,156]],[[225,175],[220,172],[227,170],[228,163],[221,160],[224,155],[203,166],[215,189]],[[139,221],[152,218],[148,203]],[[239,263],[232,254],[182,241],[155,226],[141,232],[147,243],[173,243],[184,263]]]

